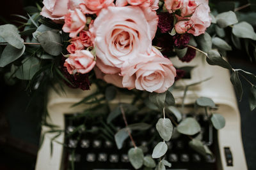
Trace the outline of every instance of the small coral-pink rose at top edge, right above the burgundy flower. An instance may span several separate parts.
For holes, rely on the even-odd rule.
[[[196,6],[195,0],[184,0],[182,7],[180,8],[180,16],[188,17],[192,15],[196,10]]]

